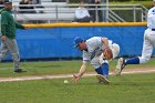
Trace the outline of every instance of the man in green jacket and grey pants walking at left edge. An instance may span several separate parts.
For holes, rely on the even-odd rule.
[[[20,54],[16,41],[16,28],[27,29],[28,27],[17,23],[12,17],[12,1],[4,1],[4,9],[1,11],[1,48],[0,61],[10,53],[14,63],[14,72],[24,72],[20,69]]]

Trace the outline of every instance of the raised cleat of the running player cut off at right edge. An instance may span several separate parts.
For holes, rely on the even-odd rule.
[[[123,58],[120,58],[117,60],[117,65],[115,69],[115,74],[121,75],[122,70],[125,68],[125,60]]]

